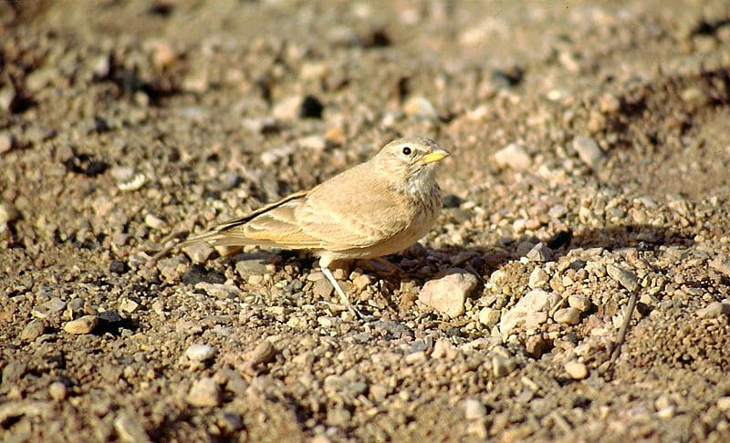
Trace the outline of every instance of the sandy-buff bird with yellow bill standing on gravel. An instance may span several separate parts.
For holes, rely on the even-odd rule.
[[[433,229],[442,209],[436,165],[450,153],[433,139],[395,139],[370,160],[179,244],[308,250],[342,304],[358,317],[330,266],[401,252]]]

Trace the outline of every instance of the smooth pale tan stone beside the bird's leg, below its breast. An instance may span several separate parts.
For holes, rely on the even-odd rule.
[[[423,285],[418,300],[450,318],[464,314],[466,297],[474,291],[477,279],[463,269],[452,268],[445,275]]]

